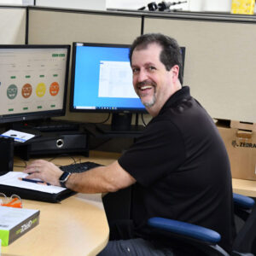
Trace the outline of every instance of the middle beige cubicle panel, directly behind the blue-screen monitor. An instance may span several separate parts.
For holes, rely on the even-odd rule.
[[[29,44],[73,44],[73,42],[131,44],[141,33],[138,15],[79,12],[65,9],[29,9]],[[66,119],[99,122],[108,113],[69,113]]]

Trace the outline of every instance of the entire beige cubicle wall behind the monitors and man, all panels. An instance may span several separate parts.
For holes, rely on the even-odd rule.
[[[0,28],[0,44],[25,44],[26,38],[28,44],[131,44],[142,32],[166,33],[186,47],[184,84],[212,118],[256,122],[254,16],[1,7]],[[98,122],[106,117],[67,109],[66,119]]]

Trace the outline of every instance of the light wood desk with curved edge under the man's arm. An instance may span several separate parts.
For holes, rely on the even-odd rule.
[[[89,158],[76,156],[74,159],[108,165],[118,156],[93,152]],[[73,163],[67,156],[52,161],[57,165]],[[24,169],[19,166],[25,166],[25,162],[15,159],[15,171]],[[2,247],[2,256],[96,255],[108,243],[108,221],[101,194],[77,194],[56,204],[24,200],[23,207],[40,210],[39,224],[8,247]]]

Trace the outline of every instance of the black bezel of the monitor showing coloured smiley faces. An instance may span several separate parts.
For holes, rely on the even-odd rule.
[[[48,119],[51,117],[65,116],[67,106],[67,81],[69,74],[70,44],[0,44],[0,49],[67,49],[66,74],[64,81],[63,104],[61,109],[47,110],[31,113],[12,113],[0,115],[0,124],[11,122],[24,122],[36,119]]]

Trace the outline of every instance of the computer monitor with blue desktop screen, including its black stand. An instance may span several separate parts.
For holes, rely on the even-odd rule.
[[[96,125],[102,132],[143,131],[131,125],[132,113],[147,111],[133,89],[130,47],[73,43],[70,111],[112,113],[111,125]]]

